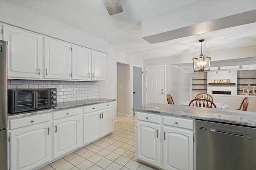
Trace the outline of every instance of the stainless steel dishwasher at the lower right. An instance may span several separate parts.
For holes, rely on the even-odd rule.
[[[256,170],[256,129],[196,120],[196,170]]]

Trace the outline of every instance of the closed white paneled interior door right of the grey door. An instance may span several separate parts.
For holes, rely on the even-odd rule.
[[[164,104],[164,66],[146,68],[146,103]]]

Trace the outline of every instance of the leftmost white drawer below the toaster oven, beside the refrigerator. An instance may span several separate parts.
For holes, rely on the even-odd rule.
[[[43,114],[10,120],[10,130],[28,125],[35,125],[38,123],[47,122],[50,121],[50,118],[50,114]]]

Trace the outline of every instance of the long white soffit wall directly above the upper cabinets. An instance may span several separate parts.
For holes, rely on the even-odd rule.
[[[0,22],[108,53],[108,41],[7,0],[0,0]]]

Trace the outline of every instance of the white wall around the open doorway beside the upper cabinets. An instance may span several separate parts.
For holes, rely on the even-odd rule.
[[[129,106],[127,108],[127,115],[132,116],[132,104],[133,104],[133,65],[136,66],[142,66],[143,67],[143,60],[136,59],[134,57],[131,57],[125,53],[122,53],[120,51],[116,51],[114,49],[109,48],[109,53],[106,55],[106,81],[99,82],[98,83],[98,96],[99,98],[117,98],[117,64],[116,63],[123,63],[130,65],[129,68],[129,88],[128,93],[130,96],[128,96],[127,99],[127,105]],[[113,86],[113,89],[111,90],[111,86]],[[116,102],[115,102],[115,113],[116,113]],[[116,115],[115,115],[116,120]]]

